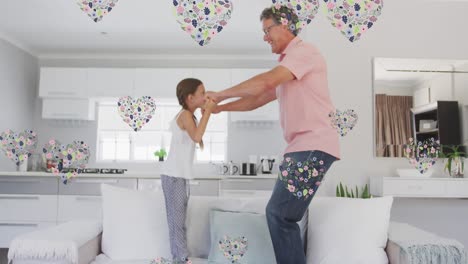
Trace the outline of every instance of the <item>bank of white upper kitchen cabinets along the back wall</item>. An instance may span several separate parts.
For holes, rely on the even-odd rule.
[[[41,68],[39,96],[46,99],[81,100],[121,96],[175,98],[177,84],[185,78],[200,79],[207,91],[221,91],[268,69],[210,68]],[[63,113],[57,101],[47,101],[44,118],[68,118],[76,113]],[[73,101],[68,102],[73,103]],[[92,110],[80,101],[88,116]],[[85,110],[86,109],[86,110]],[[83,117],[78,117],[83,118]],[[232,112],[231,121],[275,121],[279,118],[274,101],[248,112]]]

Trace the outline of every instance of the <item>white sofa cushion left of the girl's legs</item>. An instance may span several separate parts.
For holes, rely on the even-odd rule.
[[[164,196],[103,184],[102,252],[112,260],[171,257]]]

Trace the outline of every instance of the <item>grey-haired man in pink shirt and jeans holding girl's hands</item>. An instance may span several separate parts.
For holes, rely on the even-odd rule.
[[[301,22],[294,11],[272,6],[263,10],[260,20],[263,40],[272,53],[280,55],[278,66],[207,96],[217,102],[240,97],[218,105],[215,113],[249,111],[278,99],[288,145],[266,215],[277,263],[302,264],[306,260],[296,222],[340,155],[338,133],[329,117],[335,108],[329,97],[325,60],[313,45],[296,36]]]

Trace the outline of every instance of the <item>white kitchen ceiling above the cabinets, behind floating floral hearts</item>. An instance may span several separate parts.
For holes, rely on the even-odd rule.
[[[203,47],[176,22],[172,0],[120,0],[97,23],[80,10],[76,0],[0,0],[0,3],[0,38],[39,57],[270,52],[262,39],[259,15],[271,0],[235,1],[227,26]]]

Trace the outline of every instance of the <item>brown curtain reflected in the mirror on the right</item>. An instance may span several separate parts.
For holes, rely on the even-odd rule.
[[[404,145],[412,137],[412,96],[375,96],[377,157],[404,157]]]

